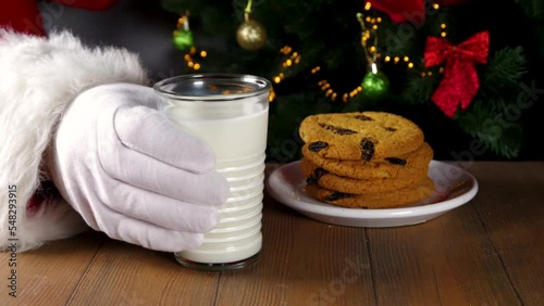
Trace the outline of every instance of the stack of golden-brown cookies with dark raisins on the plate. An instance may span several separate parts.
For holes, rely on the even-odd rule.
[[[382,112],[320,114],[300,124],[307,190],[330,204],[392,208],[434,191],[433,150],[407,118]]]

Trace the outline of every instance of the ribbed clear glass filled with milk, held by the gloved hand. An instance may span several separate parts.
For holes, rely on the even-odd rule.
[[[159,112],[200,137],[213,150],[217,170],[228,181],[218,226],[198,250],[175,253],[185,267],[232,270],[259,258],[264,189],[269,80],[236,74],[195,74],[154,85]]]

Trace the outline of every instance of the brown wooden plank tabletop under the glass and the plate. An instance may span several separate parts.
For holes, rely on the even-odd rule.
[[[269,167],[270,170],[270,167]],[[201,272],[89,232],[0,254],[0,305],[544,305],[544,163],[478,162],[480,192],[425,224],[322,224],[265,199],[263,250]]]

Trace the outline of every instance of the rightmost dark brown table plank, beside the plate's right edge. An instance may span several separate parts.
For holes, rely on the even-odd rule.
[[[473,168],[485,182],[473,208],[491,252],[519,302],[544,305],[544,164],[478,163]]]

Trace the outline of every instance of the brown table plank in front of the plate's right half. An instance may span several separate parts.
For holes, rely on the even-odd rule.
[[[517,305],[477,203],[468,205],[423,225],[368,230],[380,304]]]

